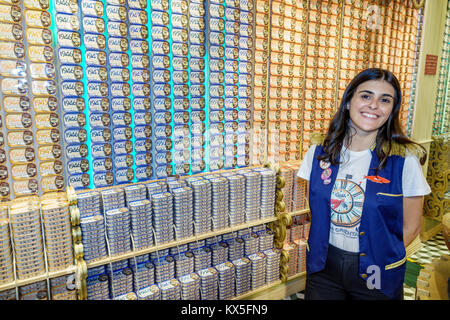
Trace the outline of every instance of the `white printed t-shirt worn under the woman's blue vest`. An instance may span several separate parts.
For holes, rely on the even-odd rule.
[[[308,180],[316,146],[306,153],[297,176]],[[364,204],[366,179],[372,155],[369,149],[351,151],[343,147],[341,164],[330,199],[331,245],[342,250],[359,252],[359,224]],[[407,152],[402,172],[403,197],[423,196],[431,192],[419,160]]]

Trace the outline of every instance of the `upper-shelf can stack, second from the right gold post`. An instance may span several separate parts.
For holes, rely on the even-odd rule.
[[[261,216],[261,174],[256,171],[245,171],[245,221],[259,220]]]

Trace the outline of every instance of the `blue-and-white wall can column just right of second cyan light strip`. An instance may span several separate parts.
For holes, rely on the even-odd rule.
[[[108,0],[105,6],[114,184],[129,183],[134,180],[132,156],[134,137],[131,126],[134,126],[136,119],[133,119],[130,113],[132,108],[130,99],[132,67],[130,62],[133,61],[133,67],[136,65],[141,68],[148,67],[148,61],[131,60],[129,50],[129,39],[146,36],[148,32],[134,25],[130,25],[128,28],[127,11],[129,11],[130,18],[132,18],[133,12],[129,6],[122,4],[125,4],[125,1]],[[133,58],[135,57],[133,56]],[[149,84],[147,86],[149,90]],[[144,91],[143,85],[133,84],[133,96],[142,96]]]

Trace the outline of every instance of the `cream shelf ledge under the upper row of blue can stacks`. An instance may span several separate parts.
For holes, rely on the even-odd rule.
[[[215,236],[222,235],[225,233],[231,233],[231,232],[234,232],[237,230],[242,230],[242,229],[258,226],[261,224],[270,223],[270,222],[276,221],[277,219],[278,218],[274,216],[274,217],[256,220],[256,221],[245,223],[245,224],[236,225],[236,226],[225,228],[225,229],[211,231],[211,232],[204,233],[204,234],[201,234],[198,236],[193,236],[193,237],[189,237],[189,238],[185,238],[185,239],[171,241],[169,243],[152,246],[150,248],[146,248],[146,249],[142,249],[142,250],[130,251],[125,254],[112,256],[112,257],[104,258],[104,259],[97,260],[97,261],[88,262],[87,267],[93,268],[93,267],[98,267],[101,265],[109,264],[112,262],[117,262],[117,261],[124,260],[124,259],[130,259],[130,258],[139,256],[139,255],[143,255],[143,254],[147,254],[147,253],[151,253],[151,252],[155,252],[155,251],[159,251],[159,250],[164,250],[164,249],[168,249],[168,248],[173,248],[173,247],[177,247],[177,246],[180,246],[180,245],[183,245],[186,243],[196,242],[199,240],[215,237]]]

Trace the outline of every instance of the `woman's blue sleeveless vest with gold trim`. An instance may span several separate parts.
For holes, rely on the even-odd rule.
[[[323,148],[318,145],[309,180],[311,226],[306,253],[308,274],[325,268],[330,236],[330,198],[339,170],[339,165],[331,165],[331,183],[324,184],[321,179],[323,169],[316,158],[322,154]],[[376,284],[373,277],[378,273],[381,292],[391,298],[403,290],[406,270],[402,195],[404,162],[405,158],[401,156],[389,156],[385,168],[378,171],[378,176],[388,179],[389,183],[367,179],[359,227],[359,276]],[[375,175],[378,164],[374,149],[368,176]]]

